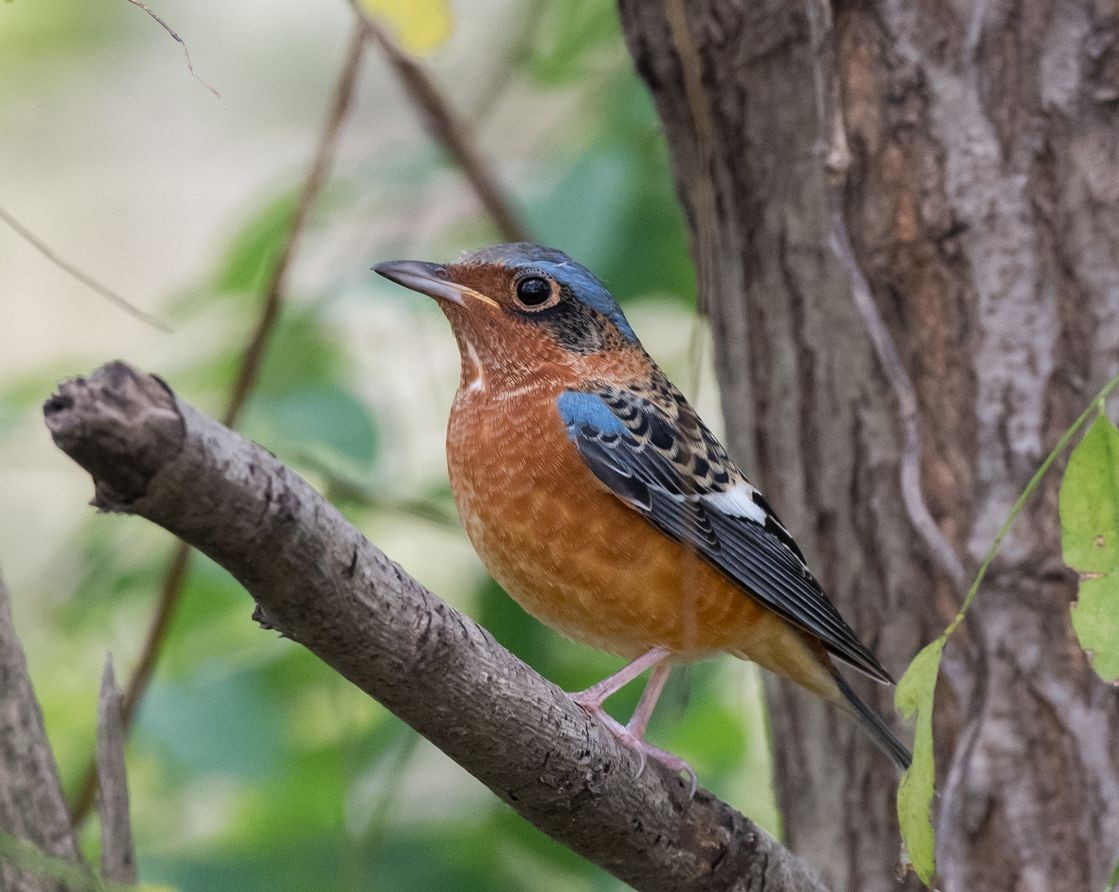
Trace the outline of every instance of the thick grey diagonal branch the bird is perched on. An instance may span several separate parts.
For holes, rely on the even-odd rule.
[[[267,623],[392,710],[544,833],[642,890],[820,890],[726,804],[605,726],[412,580],[264,448],[123,363],[59,387],[55,442],[94,504],[228,570]],[[285,645],[276,645],[283,647]],[[205,733],[205,731],[200,731]]]

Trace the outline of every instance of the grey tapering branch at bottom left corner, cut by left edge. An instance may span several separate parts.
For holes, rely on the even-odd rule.
[[[49,855],[72,862],[75,876],[87,875],[82,864],[66,800],[58,782],[55,757],[43,727],[43,713],[31,689],[27,660],[11,621],[8,590],[0,579],[0,835],[28,844],[18,854],[0,855],[0,889],[6,892],[47,892],[67,889],[57,877],[19,866],[28,855]],[[10,846],[6,846],[6,849]]]

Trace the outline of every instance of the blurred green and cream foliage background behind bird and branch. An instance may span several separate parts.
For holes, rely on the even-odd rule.
[[[0,3],[0,205],[173,328],[122,313],[0,224],[0,567],[70,792],[93,745],[105,652],[126,679],[172,541],[94,515],[88,479],[53,447],[39,406],[59,378],[121,357],[220,412],[351,26],[342,0],[157,11],[220,98],[124,0]],[[665,147],[613,6],[460,0],[453,13],[423,64],[534,238],[606,281],[718,429]],[[496,241],[393,73],[367,53],[241,428],[408,572],[545,676],[581,688],[619,660],[538,626],[488,580],[445,481],[454,344],[435,307],[368,271]],[[224,571],[195,562],[128,749],[142,882],[619,886],[314,657],[261,631],[251,611]],[[778,832],[755,670],[724,658],[676,675],[651,739]],[[620,716],[639,687],[611,703]],[[95,855],[95,820],[83,843]]]

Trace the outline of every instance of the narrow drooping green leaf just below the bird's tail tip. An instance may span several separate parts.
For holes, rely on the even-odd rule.
[[[897,788],[897,823],[913,870],[925,885],[932,882],[937,872],[935,837],[930,817],[937,783],[932,758],[932,704],[940,657],[947,641],[948,638],[941,636],[921,649],[899,682],[894,695],[894,703],[903,716],[912,719],[916,715],[913,764]]]

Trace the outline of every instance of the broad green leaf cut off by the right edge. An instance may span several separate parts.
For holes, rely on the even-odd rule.
[[[1061,547],[1080,573],[1072,627],[1092,668],[1119,679],[1119,430],[1101,415],[1069,458],[1061,482]]]

